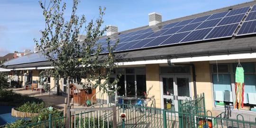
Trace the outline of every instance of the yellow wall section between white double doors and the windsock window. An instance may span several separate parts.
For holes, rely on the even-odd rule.
[[[205,107],[207,110],[212,110],[213,97],[212,97],[212,85],[210,81],[210,64],[205,62],[194,62],[196,73],[196,91],[197,94],[204,92],[205,95]]]

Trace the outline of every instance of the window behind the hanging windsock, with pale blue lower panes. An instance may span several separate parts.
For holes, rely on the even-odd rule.
[[[220,67],[221,65],[221,67]],[[250,110],[256,106],[251,96],[256,95],[256,73],[255,63],[241,63],[244,68],[244,106]],[[238,63],[218,64],[218,75],[216,64],[212,65],[213,94],[216,107],[230,106],[233,108],[233,101],[236,100],[235,82],[236,67]],[[215,67],[215,68],[214,68]],[[219,68],[220,67],[220,68]],[[224,70],[225,69],[225,70]],[[232,90],[233,89],[233,90]],[[255,102],[255,103],[254,103]],[[244,109],[245,110],[245,109]]]

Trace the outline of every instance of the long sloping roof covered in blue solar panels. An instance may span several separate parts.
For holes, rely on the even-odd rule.
[[[119,39],[119,44],[115,50],[116,55],[118,56],[123,53],[132,53],[142,50],[150,51],[150,49],[156,49],[156,51],[160,51],[163,48],[168,49],[177,46],[185,47],[195,43],[206,45],[206,42],[221,42],[222,39],[232,40],[234,39],[232,38],[234,36],[254,34],[256,33],[255,4],[256,1],[251,1],[222,9],[168,20],[151,27],[144,26],[122,31],[110,36],[110,45],[114,45],[117,39]],[[252,28],[252,26],[255,28]],[[250,37],[250,39],[251,38],[252,37]],[[105,39],[106,36],[102,36],[98,41],[99,43],[102,43],[103,48],[107,46]],[[204,50],[207,49],[201,49],[201,51]],[[103,50],[102,54],[104,55],[107,52],[107,50]],[[162,55],[167,54],[172,55],[174,53],[163,53]],[[183,53],[179,54],[183,55]],[[152,56],[153,55],[154,54],[152,54]],[[140,56],[143,57],[145,55]],[[140,56],[134,55],[129,57],[136,58]],[[44,61],[46,61],[46,58],[39,52],[10,60],[4,63],[4,65]]]

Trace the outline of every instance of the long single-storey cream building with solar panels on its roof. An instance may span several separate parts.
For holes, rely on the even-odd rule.
[[[256,1],[162,21],[159,13],[149,14],[149,25],[118,32],[110,26],[111,42],[119,38],[115,56],[121,73],[115,96],[99,95],[105,103],[117,97],[136,97],[155,102],[156,108],[178,110],[177,100],[205,94],[207,110],[225,110],[256,115]],[[104,47],[104,44],[103,44]],[[104,59],[107,51],[101,54]],[[244,107],[234,108],[235,72],[244,68]],[[41,52],[3,64],[13,74],[27,73],[38,80],[40,70],[52,68]],[[24,76],[21,76],[24,77]],[[25,77],[23,78],[25,80]],[[66,80],[50,78],[51,88],[66,94]],[[23,83],[25,85],[25,83]],[[98,88],[96,92],[100,91]]]

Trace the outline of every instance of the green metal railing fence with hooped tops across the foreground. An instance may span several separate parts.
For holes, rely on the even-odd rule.
[[[179,100],[178,111],[133,104],[117,104],[112,107],[113,110],[110,110],[111,106],[100,107],[73,113],[72,128],[116,128],[112,125],[114,120],[117,128],[256,128],[256,121],[247,122],[242,115],[238,115],[237,119],[228,119],[225,113],[212,116],[211,111],[205,110],[204,94],[195,99]],[[126,113],[126,117],[119,117],[121,113]],[[20,128],[65,128],[65,118],[49,117],[46,121]]]

